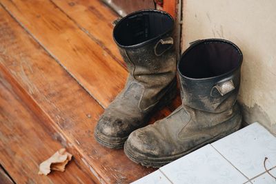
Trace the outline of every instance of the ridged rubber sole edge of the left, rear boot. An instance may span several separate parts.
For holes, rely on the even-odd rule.
[[[141,126],[144,127],[148,125],[148,121],[150,120],[150,117],[152,114],[154,114],[157,110],[161,110],[165,106],[169,105],[173,99],[177,96],[177,78],[172,80],[172,83],[169,84],[168,91],[164,94],[164,96],[159,100],[159,102],[155,105],[155,108],[153,108],[152,112],[150,112],[146,116],[146,123]],[[140,127],[139,127],[140,128]],[[137,128],[138,129],[138,128]],[[134,131],[134,130],[133,130]],[[97,132],[94,132],[95,139],[98,143],[101,145],[111,148],[111,149],[121,149],[124,147],[124,143],[126,142],[126,139],[128,139],[128,136],[124,138],[120,137],[111,137],[106,136],[104,134],[97,134]]]

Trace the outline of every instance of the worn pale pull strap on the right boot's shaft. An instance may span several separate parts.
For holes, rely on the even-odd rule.
[[[213,86],[210,96],[215,97],[217,96],[215,93],[215,89],[219,92],[221,96],[224,96],[228,92],[235,90],[235,86],[232,79],[227,79],[224,81],[219,81],[216,85]]]

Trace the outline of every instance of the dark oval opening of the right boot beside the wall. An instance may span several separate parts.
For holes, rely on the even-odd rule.
[[[242,52],[230,41],[199,41],[181,57],[179,72],[193,79],[204,79],[231,72],[242,64]]]

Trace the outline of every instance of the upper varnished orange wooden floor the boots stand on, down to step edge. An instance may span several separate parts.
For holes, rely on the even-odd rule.
[[[110,35],[116,14],[96,0],[0,2],[0,79],[37,123],[97,183],[130,183],[154,171],[132,163],[123,150],[102,147],[93,136],[99,116],[126,81]],[[178,97],[151,123],[179,104]]]

